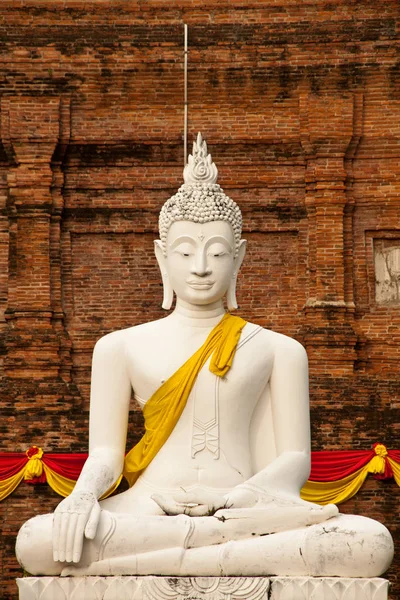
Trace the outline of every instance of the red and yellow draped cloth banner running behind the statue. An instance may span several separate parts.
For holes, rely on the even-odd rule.
[[[0,452],[0,501],[25,483],[48,483],[60,496],[68,496],[82,470],[87,454],[44,453],[38,446],[24,452]],[[400,486],[400,450],[374,444],[371,450],[312,452],[310,478],[302,489],[304,500],[318,504],[341,504],[354,496],[368,474],[375,479],[395,479]],[[122,476],[104,495],[109,496]]]

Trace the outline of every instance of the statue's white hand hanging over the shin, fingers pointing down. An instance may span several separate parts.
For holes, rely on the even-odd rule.
[[[100,505],[92,492],[72,492],[57,506],[53,523],[53,558],[77,563],[84,537],[92,540],[100,519]]]

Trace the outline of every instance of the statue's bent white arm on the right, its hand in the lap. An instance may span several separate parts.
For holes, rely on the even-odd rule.
[[[303,346],[291,338],[279,336],[277,342],[269,381],[276,458],[232,491],[229,497],[234,504],[241,503],[240,496],[245,490],[255,495],[265,492],[299,498],[309,476],[307,354]]]

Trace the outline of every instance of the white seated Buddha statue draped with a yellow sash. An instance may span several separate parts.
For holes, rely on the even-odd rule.
[[[33,575],[378,576],[393,557],[387,529],[300,498],[304,348],[225,316],[246,242],[200,134],[184,178],[155,242],[175,309],[97,342],[89,457],[54,515],[23,525],[18,559]],[[133,485],[99,500],[124,468],[132,389],[147,427],[125,461]]]

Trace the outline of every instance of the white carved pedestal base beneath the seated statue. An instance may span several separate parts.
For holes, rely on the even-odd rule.
[[[25,577],[19,600],[387,600],[385,579]]]

